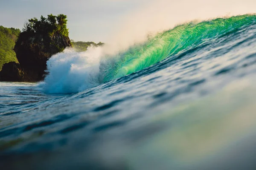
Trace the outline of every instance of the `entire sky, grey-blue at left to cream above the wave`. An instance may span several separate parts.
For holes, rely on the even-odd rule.
[[[190,20],[246,13],[256,13],[256,0],[0,0],[0,25],[22,29],[30,18],[65,14],[75,41],[128,41]]]

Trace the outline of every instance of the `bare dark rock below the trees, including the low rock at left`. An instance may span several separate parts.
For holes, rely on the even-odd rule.
[[[14,51],[20,64],[9,62],[0,71],[0,81],[38,82],[44,79],[47,60],[72,47],[69,37],[61,34],[20,33]]]

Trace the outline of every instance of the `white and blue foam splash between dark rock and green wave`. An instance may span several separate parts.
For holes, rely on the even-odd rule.
[[[99,84],[99,61],[102,48],[88,48],[75,52],[67,48],[47,61],[49,74],[44,80],[44,91],[50,94],[76,93]]]

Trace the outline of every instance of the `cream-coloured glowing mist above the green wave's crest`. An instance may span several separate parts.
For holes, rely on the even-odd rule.
[[[126,51],[134,43],[147,40],[184,23],[199,23],[218,17],[231,17],[255,13],[254,0],[153,0],[128,13],[113,28],[106,40],[106,53]]]

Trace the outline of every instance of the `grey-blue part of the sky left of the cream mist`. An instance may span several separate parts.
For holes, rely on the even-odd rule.
[[[32,17],[66,14],[70,38],[104,41],[123,15],[150,0],[0,0],[0,25],[22,28]]]

